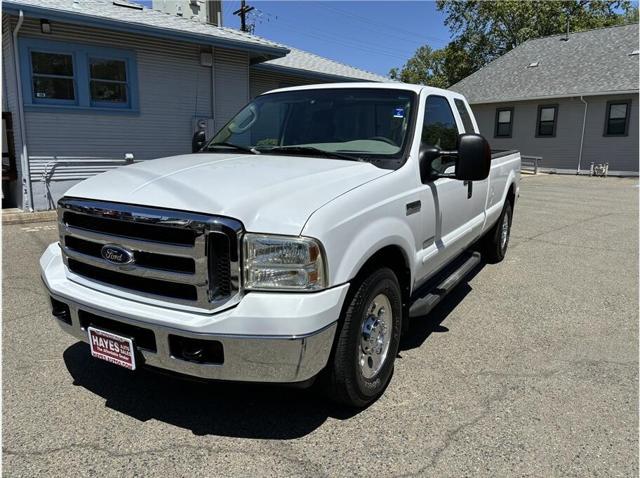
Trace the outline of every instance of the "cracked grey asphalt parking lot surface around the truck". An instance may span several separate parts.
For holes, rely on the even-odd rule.
[[[3,228],[5,476],[637,476],[638,181],[529,176],[504,262],[412,324],[384,396],[195,383],[93,359]]]

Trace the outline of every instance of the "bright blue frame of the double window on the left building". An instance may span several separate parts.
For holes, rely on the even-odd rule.
[[[19,51],[22,96],[26,110],[44,111],[57,109],[60,111],[82,111],[85,113],[139,113],[137,59],[134,51],[61,41],[42,40],[32,37],[20,37]],[[35,98],[33,78],[38,75],[34,75],[33,73],[31,62],[32,52],[66,54],[72,56],[74,100]],[[96,58],[124,61],[127,75],[126,103],[113,104],[105,101],[94,101],[91,98],[90,59]]]

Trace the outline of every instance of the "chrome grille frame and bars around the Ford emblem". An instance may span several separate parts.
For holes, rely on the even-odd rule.
[[[130,222],[132,224],[144,224],[146,226],[158,226],[174,228],[177,230],[192,230],[194,244],[172,244],[161,241],[145,240],[136,237],[102,233],[84,228],[69,226],[64,221],[64,213],[72,212],[91,217]],[[126,290],[129,293],[145,297],[153,297],[154,300],[165,298],[167,302],[191,305],[205,310],[215,310],[223,305],[233,305],[239,302],[242,295],[240,281],[240,258],[243,227],[240,221],[223,216],[210,216],[200,213],[176,211],[147,206],[128,205],[105,201],[94,201],[79,198],[62,198],[58,201],[58,229],[60,244],[62,246],[63,260],[68,267],[68,259],[89,264],[94,267],[124,273],[132,276],[150,279],[164,280],[180,284],[195,285],[198,299],[196,301],[180,300],[162,295],[147,294],[135,289],[106,284],[114,287],[115,291]],[[161,234],[162,231],[159,231]],[[209,282],[209,267],[207,260],[207,243],[210,234],[223,234],[225,237],[236,239],[235,251],[230,251],[230,294],[222,297],[212,297],[217,290],[215,284]],[[100,258],[74,251],[65,244],[65,236],[75,236],[87,241],[99,244],[116,244],[127,249],[139,252],[163,254],[177,257],[190,257],[195,261],[195,273],[172,272],[169,270],[154,269],[138,266],[137,264],[115,265]],[[84,277],[84,276],[80,276]],[[85,278],[91,280],[91,278]],[[100,281],[96,281],[100,282]],[[100,282],[103,284],[102,282]]]

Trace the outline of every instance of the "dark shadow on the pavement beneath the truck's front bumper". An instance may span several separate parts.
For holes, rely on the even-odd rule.
[[[140,421],[160,420],[195,435],[287,440],[305,436],[328,417],[358,413],[331,404],[316,387],[192,381],[140,369],[130,372],[91,357],[78,342],[64,352],[74,385],[105,406]]]

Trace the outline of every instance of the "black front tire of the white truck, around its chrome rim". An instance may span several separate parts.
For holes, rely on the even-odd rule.
[[[384,392],[391,379],[402,329],[402,294],[396,275],[388,268],[368,273],[352,287],[354,293],[343,308],[334,351],[325,371],[325,389],[333,401],[363,408]],[[390,334],[389,348],[377,373],[367,378],[360,365],[363,325],[371,317],[368,308],[381,294],[388,299],[392,312],[391,327],[386,330]]]

